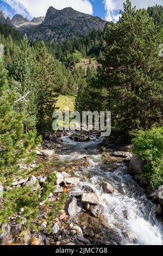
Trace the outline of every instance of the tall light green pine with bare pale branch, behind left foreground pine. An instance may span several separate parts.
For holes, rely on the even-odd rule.
[[[33,129],[37,124],[39,110],[37,102],[39,68],[36,63],[34,49],[30,47],[27,36],[21,41],[21,47],[15,48],[15,59],[8,64],[10,87],[15,90],[18,97],[28,96],[18,102],[17,111],[26,116],[24,125],[27,130]]]

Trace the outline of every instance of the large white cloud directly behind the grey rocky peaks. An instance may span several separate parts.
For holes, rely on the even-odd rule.
[[[16,13],[24,16],[29,14],[31,17],[45,16],[50,6],[59,10],[72,7],[82,13],[93,14],[89,0],[4,0],[4,2],[8,3]]]

